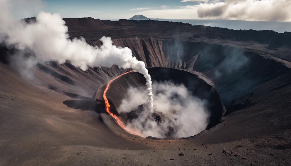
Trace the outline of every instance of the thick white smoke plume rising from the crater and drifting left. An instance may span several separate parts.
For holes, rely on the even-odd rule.
[[[10,14],[10,3],[0,0],[0,37],[8,45],[19,50],[30,49],[35,53],[38,63],[56,61],[59,64],[70,62],[86,71],[88,67],[132,68],[144,75],[148,86],[148,108],[152,110],[152,82],[145,63],[132,56],[125,47],[112,45],[110,37],[102,37],[102,46],[93,47],[84,38],[70,39],[65,21],[57,13],[40,12],[36,23],[26,24],[15,21]]]

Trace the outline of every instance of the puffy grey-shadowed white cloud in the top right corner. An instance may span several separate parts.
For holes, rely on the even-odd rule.
[[[290,0],[225,0],[197,5],[198,17],[248,21],[291,21]]]

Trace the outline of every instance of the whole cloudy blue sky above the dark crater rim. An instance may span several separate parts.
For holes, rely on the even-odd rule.
[[[141,14],[160,19],[224,19],[291,21],[291,0],[0,0],[11,1],[15,17],[38,12],[60,13],[62,18],[129,19]],[[19,5],[21,4],[21,5]],[[26,9],[25,12],[19,12]],[[28,8],[33,8],[27,10]],[[29,11],[29,12],[28,12]]]

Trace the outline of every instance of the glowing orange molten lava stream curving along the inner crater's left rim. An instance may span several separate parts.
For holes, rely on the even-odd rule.
[[[103,92],[103,99],[105,101],[105,109],[106,109],[106,111],[116,120],[116,122],[118,123],[118,125],[120,127],[122,127],[125,131],[127,131],[127,132],[129,132],[131,134],[140,135],[138,132],[134,132],[134,131],[130,131],[130,130],[126,129],[125,126],[123,125],[123,123],[121,122],[121,120],[116,115],[114,115],[112,112],[110,112],[110,109],[109,109],[110,108],[110,104],[109,104],[108,99],[106,97],[106,92],[109,89],[109,86],[110,86],[111,82],[113,82],[114,80],[118,79],[119,77],[121,77],[121,76],[123,76],[123,75],[125,75],[127,73],[131,73],[131,72],[134,72],[134,71],[129,71],[129,72],[123,73],[123,74],[119,75],[118,77],[114,78],[113,80],[110,80],[108,82],[104,92]]]

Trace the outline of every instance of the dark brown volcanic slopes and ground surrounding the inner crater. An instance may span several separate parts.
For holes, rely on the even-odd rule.
[[[100,45],[100,37],[111,36],[148,67],[178,68],[204,78],[226,105],[226,116],[187,139],[132,136],[102,112],[98,97],[106,82],[124,70],[83,72],[50,63],[35,67],[34,77],[27,79],[9,60],[15,50],[1,47],[0,165],[291,164],[289,33],[164,21],[65,21],[72,37],[83,36],[89,44]],[[246,58],[229,61],[230,55]],[[242,61],[238,68],[231,65]],[[124,79],[124,87],[134,84]],[[111,92],[111,100],[122,95]]]

